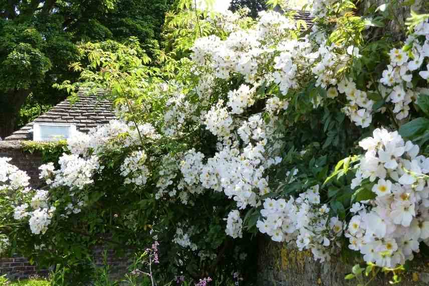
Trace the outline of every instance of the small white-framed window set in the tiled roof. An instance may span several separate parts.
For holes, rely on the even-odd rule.
[[[55,141],[67,139],[76,132],[76,125],[70,123],[34,123],[33,140]]]

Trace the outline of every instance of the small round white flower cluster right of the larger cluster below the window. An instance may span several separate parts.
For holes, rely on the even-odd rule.
[[[147,159],[144,151],[134,151],[127,156],[120,167],[121,176],[125,177],[124,184],[143,186],[147,182],[149,170],[144,165]]]

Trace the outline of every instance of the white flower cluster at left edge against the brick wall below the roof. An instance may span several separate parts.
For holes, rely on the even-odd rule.
[[[12,158],[0,158],[0,190],[5,188],[17,190],[30,185],[30,177],[27,172],[9,164],[11,160]]]

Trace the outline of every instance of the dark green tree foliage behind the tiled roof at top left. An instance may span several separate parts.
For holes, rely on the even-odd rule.
[[[79,43],[124,42],[134,36],[148,50],[156,50],[164,14],[172,3],[172,0],[2,2],[0,136],[9,135],[17,124],[28,123],[45,107],[65,98],[66,93],[59,93],[52,85],[76,80],[78,73],[69,70],[68,65],[79,60]]]

